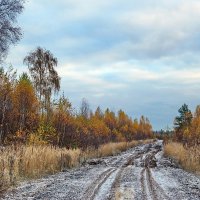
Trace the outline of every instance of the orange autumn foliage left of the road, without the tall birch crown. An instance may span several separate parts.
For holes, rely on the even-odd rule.
[[[80,113],[62,95],[49,104],[48,112],[42,110],[36,88],[27,74],[10,87],[10,110],[6,112],[4,126],[6,141],[29,144],[52,144],[67,148],[88,148],[108,142],[131,141],[152,137],[152,128],[147,118],[132,120],[123,110],[116,114],[98,107],[93,113],[83,99]]]

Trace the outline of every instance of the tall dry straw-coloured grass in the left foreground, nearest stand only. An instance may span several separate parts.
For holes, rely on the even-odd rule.
[[[80,150],[51,146],[6,147],[0,150],[0,191],[25,178],[40,178],[77,166]]]

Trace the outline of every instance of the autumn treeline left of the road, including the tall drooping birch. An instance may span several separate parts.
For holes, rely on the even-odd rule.
[[[107,142],[152,137],[147,118],[132,120],[98,107],[95,112],[82,100],[75,111],[64,96],[52,100],[60,90],[57,59],[50,51],[37,48],[24,59],[29,74],[17,78],[12,68],[0,68],[0,144],[52,144],[67,148],[98,147]]]

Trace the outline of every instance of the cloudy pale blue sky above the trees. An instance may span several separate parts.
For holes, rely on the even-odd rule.
[[[75,108],[86,98],[165,129],[183,103],[200,104],[199,19],[199,0],[28,0],[6,62],[21,73],[23,58],[44,47]]]

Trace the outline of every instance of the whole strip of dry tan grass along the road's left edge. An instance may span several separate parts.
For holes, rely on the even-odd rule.
[[[77,167],[89,158],[116,155],[152,140],[108,143],[98,149],[67,150],[51,146],[9,146],[0,149],[0,191],[24,179],[40,178]]]

